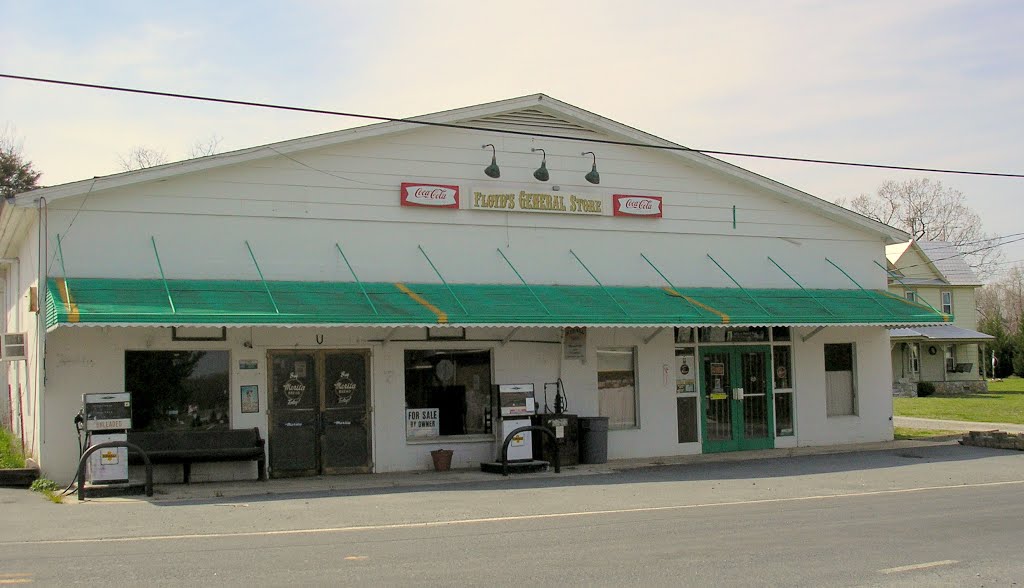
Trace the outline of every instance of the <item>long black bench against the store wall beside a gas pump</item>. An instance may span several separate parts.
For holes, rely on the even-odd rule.
[[[266,479],[266,452],[258,428],[169,431],[128,431],[128,443],[137,445],[154,464],[180,463],[189,484],[191,464],[215,461],[255,461],[259,479]],[[142,463],[142,456],[128,453],[128,463]]]

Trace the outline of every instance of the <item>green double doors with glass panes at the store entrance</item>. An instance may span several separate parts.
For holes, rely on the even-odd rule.
[[[705,453],[775,447],[767,345],[700,349]]]

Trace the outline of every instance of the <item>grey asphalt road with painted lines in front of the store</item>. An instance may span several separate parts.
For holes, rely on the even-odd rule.
[[[1022,496],[1024,453],[955,445],[188,502],[0,490],[0,586],[1015,586]]]

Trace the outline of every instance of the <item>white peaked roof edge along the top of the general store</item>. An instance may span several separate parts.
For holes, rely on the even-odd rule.
[[[678,143],[562,102],[546,94],[530,94],[517,98],[413,117],[400,121],[377,123],[253,146],[141,170],[97,176],[90,179],[40,188],[32,193],[23,193],[16,197],[13,204],[19,207],[31,206],[39,198],[46,198],[48,202],[53,202],[54,200],[84,194],[94,195],[115,187],[166,179],[168,177],[196,173],[253,160],[282,155],[287,156],[297,152],[368,137],[409,131],[420,125],[454,128],[469,127],[483,132],[493,131],[526,136],[557,135],[559,137],[572,137],[581,141],[606,143],[630,142],[654,148],[670,148],[666,153],[705,168],[713,169],[731,178],[759,186],[771,192],[784,202],[811,209],[841,224],[854,226],[877,235],[885,239],[887,243],[901,242],[909,237],[906,233],[898,228],[867,218],[805,192],[699,152],[688,151],[687,148]],[[611,137],[610,139],[605,138],[609,136]]]

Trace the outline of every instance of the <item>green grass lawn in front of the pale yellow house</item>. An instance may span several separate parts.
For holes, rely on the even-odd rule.
[[[984,394],[893,398],[898,417],[1024,424],[1024,378],[989,382]]]

